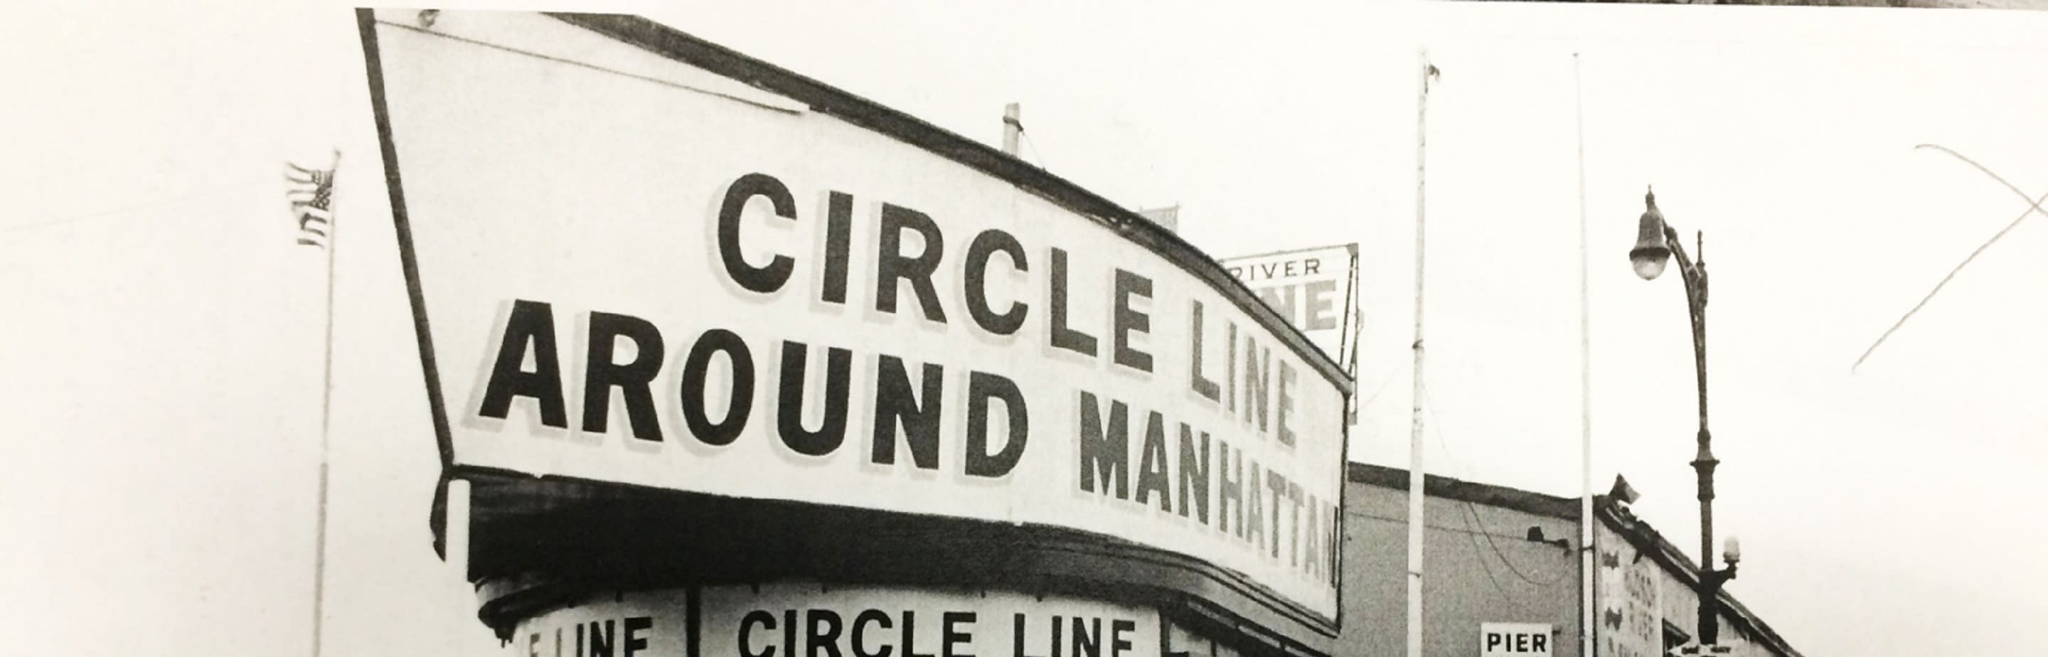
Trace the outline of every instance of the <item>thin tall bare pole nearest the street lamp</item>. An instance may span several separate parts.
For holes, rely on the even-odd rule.
[[[1593,303],[1585,246],[1585,92],[1571,53],[1571,98],[1579,137],[1579,657],[1593,657]]]

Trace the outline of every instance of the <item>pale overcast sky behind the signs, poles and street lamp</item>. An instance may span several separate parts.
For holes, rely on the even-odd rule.
[[[461,6],[461,4],[457,4]],[[559,6],[557,6],[559,8]],[[2017,655],[2048,618],[2048,12],[608,4],[999,141],[1214,256],[1362,244],[1358,461],[1409,463],[1415,70],[1427,469],[1577,495],[1581,53],[1593,479],[1698,544],[1675,270],[1706,231],[1731,589],[1808,655]],[[342,4],[43,4],[0,27],[0,596],[23,653],[291,653],[311,610],[322,276],[279,162],[340,145],[330,655],[487,651],[428,546],[434,442]],[[1690,237],[1688,237],[1688,246]],[[467,608],[465,608],[467,604]]]

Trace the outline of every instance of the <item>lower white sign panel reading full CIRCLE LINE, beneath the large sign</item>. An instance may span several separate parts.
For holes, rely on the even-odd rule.
[[[1159,612],[1010,592],[707,587],[702,657],[1153,657]]]

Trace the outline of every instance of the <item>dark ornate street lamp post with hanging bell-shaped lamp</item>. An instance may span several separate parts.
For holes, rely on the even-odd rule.
[[[1692,469],[1700,475],[1700,645],[1720,641],[1720,585],[1735,579],[1735,563],[1741,561],[1741,544],[1729,538],[1729,567],[1714,569],[1714,436],[1706,430],[1706,244],[1694,233],[1700,260],[1686,256],[1686,246],[1663,213],[1657,211],[1657,194],[1645,192],[1642,223],[1636,248],[1628,252],[1636,276],[1657,278],[1665,270],[1665,260],[1677,256],[1679,276],[1686,278],[1686,309],[1692,313],[1692,358],[1700,381],[1700,452],[1692,458]]]

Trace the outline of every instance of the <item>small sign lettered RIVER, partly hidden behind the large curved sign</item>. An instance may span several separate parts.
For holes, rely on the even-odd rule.
[[[1358,244],[1339,244],[1217,262],[1309,336],[1323,354],[1341,358],[1346,325],[1352,323],[1348,301],[1354,297],[1356,260]],[[1352,332],[1352,340],[1358,340],[1356,327]]]

